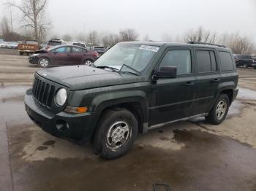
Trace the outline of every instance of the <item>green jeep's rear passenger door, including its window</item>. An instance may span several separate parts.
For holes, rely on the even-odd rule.
[[[222,81],[219,58],[214,49],[195,48],[196,97],[194,114],[208,112],[217,95],[217,86]]]

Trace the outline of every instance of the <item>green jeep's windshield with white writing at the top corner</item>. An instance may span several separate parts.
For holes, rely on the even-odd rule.
[[[121,69],[125,64],[136,71],[143,72],[148,66],[159,47],[146,46],[139,44],[116,44],[105,52],[95,63],[94,66],[110,66]],[[128,67],[125,68],[126,70]],[[125,69],[122,69],[124,71]],[[128,69],[130,71],[130,69]]]

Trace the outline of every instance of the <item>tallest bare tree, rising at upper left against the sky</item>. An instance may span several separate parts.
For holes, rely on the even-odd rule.
[[[50,26],[45,15],[47,2],[48,0],[22,0],[21,4],[7,2],[7,5],[16,7],[23,14],[23,27],[32,28],[38,42],[42,41],[42,37]]]

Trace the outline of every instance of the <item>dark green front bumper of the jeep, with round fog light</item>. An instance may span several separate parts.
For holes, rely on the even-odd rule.
[[[92,118],[91,113],[69,114],[67,112],[59,112],[54,114],[44,106],[37,104],[31,94],[31,90],[26,92],[24,103],[26,112],[31,120],[47,133],[74,141],[90,139],[85,136],[85,132],[89,128]]]

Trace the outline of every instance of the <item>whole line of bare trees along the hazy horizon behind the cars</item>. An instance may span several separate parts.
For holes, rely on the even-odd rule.
[[[148,34],[139,38],[140,34],[133,28],[121,29],[118,33],[102,33],[97,30],[89,32],[80,32],[63,36],[51,35],[48,33],[52,24],[47,17],[48,0],[21,0],[20,4],[15,1],[6,0],[4,3],[8,10],[8,15],[0,18],[0,38],[6,41],[19,41],[23,39],[36,39],[38,42],[46,42],[49,37],[63,39],[64,41],[83,41],[91,46],[102,44],[105,47],[111,47],[113,44],[124,41],[135,41],[142,39],[149,41],[151,39]],[[13,27],[13,12],[19,12],[20,26],[15,31]],[[180,36],[173,38],[170,34],[163,34],[162,41],[167,42],[207,42],[223,44],[230,47],[236,54],[251,55],[255,54],[255,43],[249,36],[241,34],[217,34],[217,32],[209,31],[203,27],[186,31]]]

